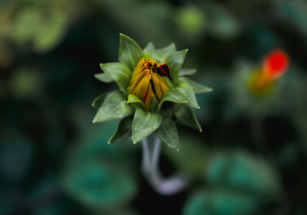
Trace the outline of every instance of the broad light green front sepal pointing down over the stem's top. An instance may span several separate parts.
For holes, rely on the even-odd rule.
[[[132,123],[133,143],[137,143],[156,131],[161,125],[162,119],[161,114],[145,112],[142,108],[137,108]]]

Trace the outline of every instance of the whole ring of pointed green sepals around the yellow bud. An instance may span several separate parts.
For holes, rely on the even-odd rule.
[[[176,116],[179,123],[201,131],[191,107],[200,108],[196,93],[211,92],[212,89],[181,77],[196,72],[195,69],[181,69],[187,51],[176,51],[174,44],[155,49],[152,43],[142,50],[130,37],[120,34],[119,62],[100,64],[104,73],[95,75],[102,82],[115,81],[120,89],[98,96],[92,104],[93,107],[99,108],[94,123],[122,119],[109,143],[116,143],[131,136],[133,142],[137,143],[156,132],[166,145],[178,149],[179,138],[173,116]],[[170,77],[161,76],[169,90],[163,94],[161,100],[154,97],[150,111],[145,110],[140,97],[129,95],[128,86],[139,61],[148,58],[161,65],[166,62],[170,69]],[[149,109],[149,106],[147,108]]]

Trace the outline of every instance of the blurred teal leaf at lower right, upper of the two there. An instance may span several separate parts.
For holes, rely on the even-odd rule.
[[[271,165],[243,152],[213,157],[207,168],[207,180],[213,186],[248,191],[259,199],[276,198],[280,193],[279,178]]]

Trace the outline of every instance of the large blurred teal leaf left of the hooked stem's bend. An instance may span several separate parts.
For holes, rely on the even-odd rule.
[[[117,210],[136,194],[137,184],[125,170],[109,162],[87,160],[67,168],[64,190],[93,209]]]

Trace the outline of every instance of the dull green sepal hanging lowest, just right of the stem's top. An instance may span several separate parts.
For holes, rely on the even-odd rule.
[[[179,150],[179,138],[175,124],[169,118],[163,118],[163,121],[158,127],[156,134],[158,138],[167,146]]]

